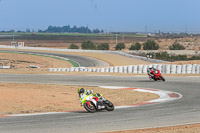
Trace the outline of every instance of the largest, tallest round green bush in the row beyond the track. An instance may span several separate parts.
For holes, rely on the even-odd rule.
[[[159,45],[154,40],[147,40],[143,44],[143,49],[144,50],[158,50],[159,49]]]

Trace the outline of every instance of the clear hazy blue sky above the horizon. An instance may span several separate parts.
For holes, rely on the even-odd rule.
[[[0,0],[0,31],[88,26],[105,32],[200,33],[200,0]]]

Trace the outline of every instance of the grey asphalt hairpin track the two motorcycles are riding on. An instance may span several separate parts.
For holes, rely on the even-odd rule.
[[[88,133],[200,122],[200,77],[166,77],[166,82],[154,82],[144,76],[0,74],[0,82],[141,87],[183,95],[181,99],[171,102],[116,109],[113,112],[1,117],[0,133]]]

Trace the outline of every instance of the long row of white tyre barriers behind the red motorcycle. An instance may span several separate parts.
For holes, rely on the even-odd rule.
[[[170,65],[170,64],[153,64],[153,65],[129,65],[115,66],[106,68],[87,68],[87,67],[71,67],[71,68],[49,68],[50,72],[103,72],[103,73],[147,73],[147,68],[155,66],[164,74],[199,74],[200,65]]]

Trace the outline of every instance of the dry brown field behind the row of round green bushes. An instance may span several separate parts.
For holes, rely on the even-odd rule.
[[[100,43],[109,43],[110,49],[114,50],[116,46],[115,36],[16,36],[16,40],[24,41],[26,46],[29,47],[56,47],[56,48],[68,48],[70,44],[76,44],[79,47],[81,43],[85,40],[91,40],[95,44]],[[10,45],[11,38],[2,38],[0,40],[0,45]],[[126,45],[126,49],[128,49],[134,43],[144,43],[147,40],[155,40],[160,49],[168,49],[170,45],[174,42],[178,42],[181,45],[184,45],[187,50],[200,50],[200,36],[152,36],[152,37],[131,37],[126,36],[124,38],[124,43]],[[118,37],[118,43],[123,42],[122,35]]]

